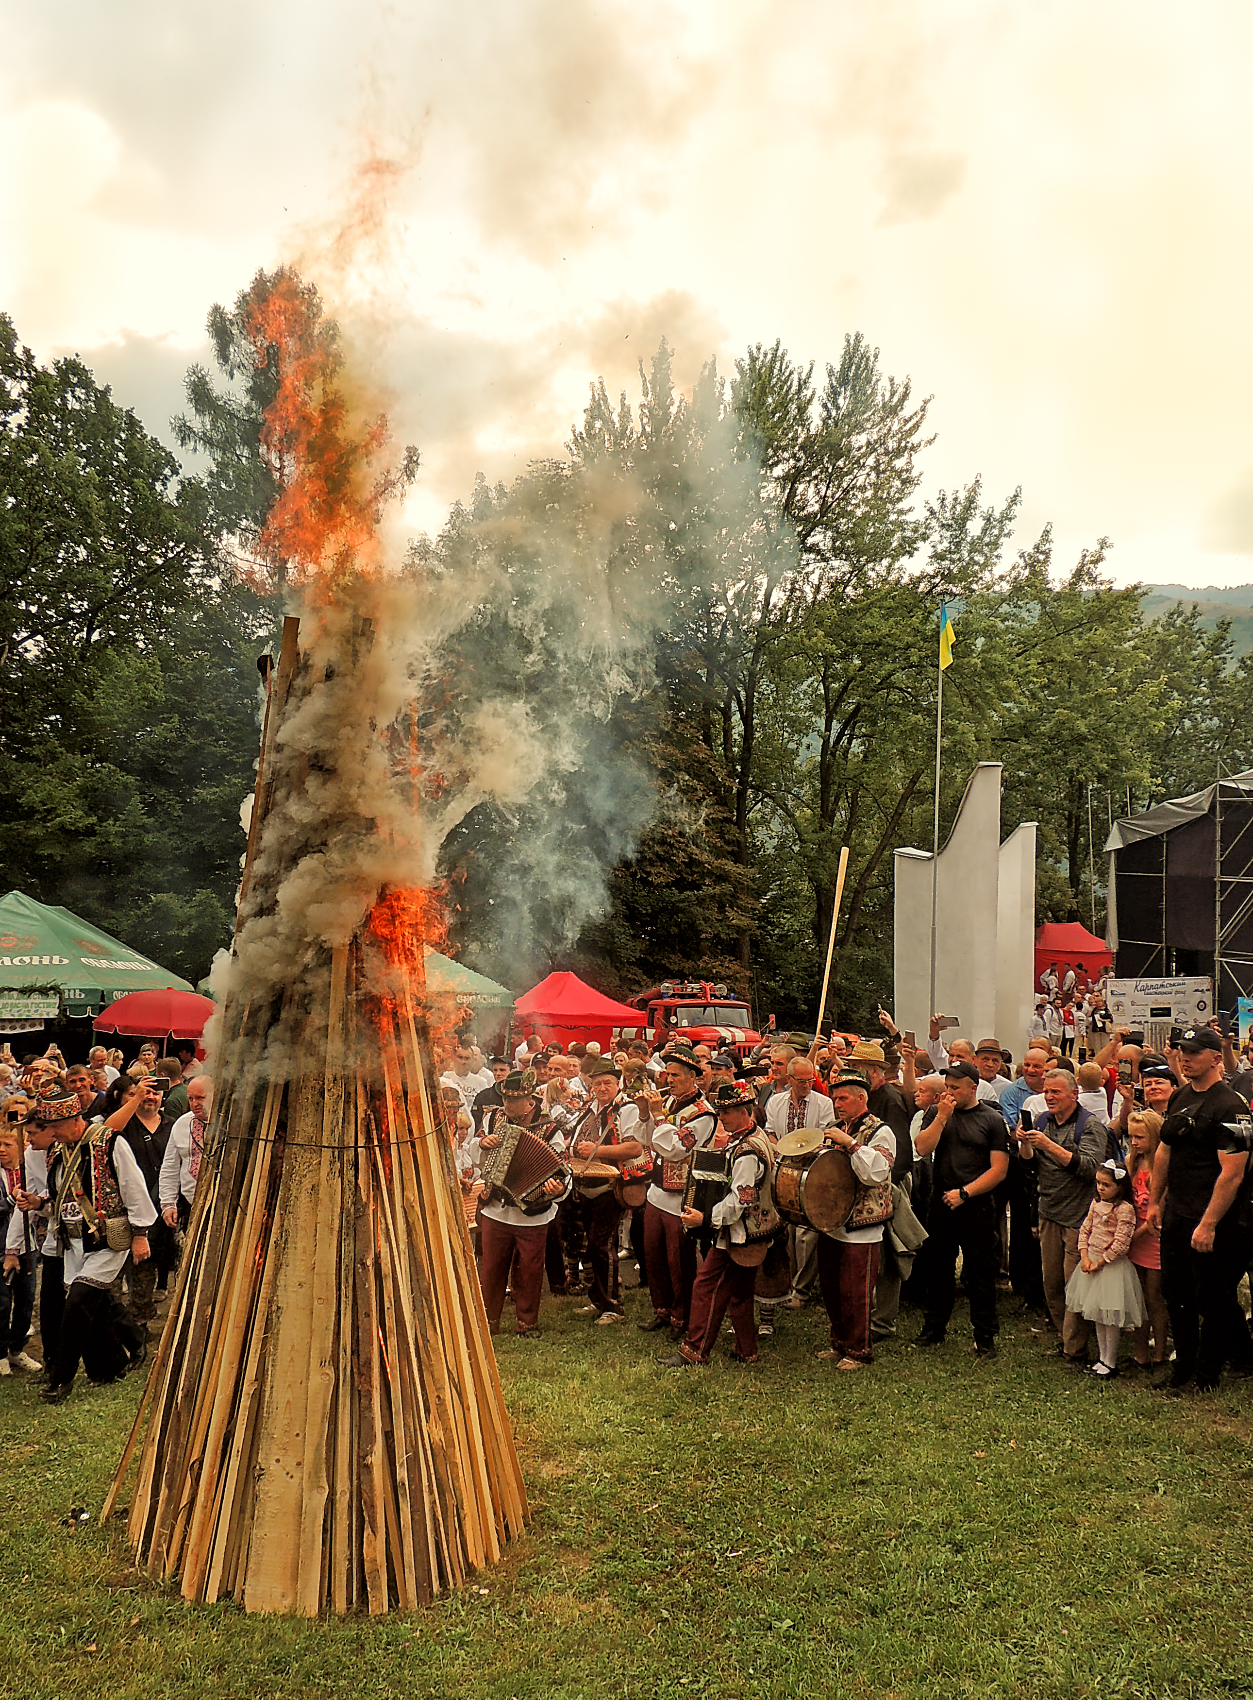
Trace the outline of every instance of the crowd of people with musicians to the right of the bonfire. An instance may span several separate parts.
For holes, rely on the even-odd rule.
[[[1081,996],[1103,1008],[1098,988]],[[634,1265],[651,1300],[638,1326],[668,1329],[666,1365],[709,1363],[728,1312],[731,1357],[753,1363],[780,1311],[821,1306],[819,1357],[860,1370],[903,1302],[920,1312],[910,1343],[942,1346],[961,1270],[976,1358],[996,1353],[1012,1294],[1044,1350],[1097,1382],[1204,1391],[1253,1370],[1253,1062],[1217,1023],[1161,1052],[1103,1023],[1068,1049],[1032,1034],[1017,1061],[995,1037],[945,1042],[938,1015],[921,1046],[881,1023],[881,1040],[746,1057],[682,1039],[609,1056],[461,1044],[440,1090],[493,1331],[512,1297],[515,1333],[534,1336],[544,1280],[621,1324]],[[553,1158],[529,1198],[493,1161],[519,1127]],[[840,1219],[796,1205],[830,1149],[848,1159]],[[695,1197],[706,1151],[726,1153],[724,1185]]]

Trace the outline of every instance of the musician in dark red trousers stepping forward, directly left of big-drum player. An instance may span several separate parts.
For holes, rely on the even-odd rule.
[[[755,1248],[779,1227],[770,1197],[774,1149],[757,1127],[757,1095],[748,1081],[719,1086],[714,1098],[728,1134],[731,1188],[707,1212],[683,1209],[683,1224],[714,1234],[700,1273],[692,1287],[692,1316],[687,1340],[678,1352],[660,1358],[666,1368],[700,1368],[709,1363],[723,1318],[731,1311],[734,1352],[740,1363],[757,1363],[753,1290],[760,1258]]]

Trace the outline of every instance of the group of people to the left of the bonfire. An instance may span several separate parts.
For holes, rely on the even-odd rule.
[[[0,1052],[0,1375],[43,1372],[60,1402],[80,1365],[111,1382],[146,1362],[211,1114],[192,1044],[129,1068],[104,1047],[75,1064],[56,1046]]]

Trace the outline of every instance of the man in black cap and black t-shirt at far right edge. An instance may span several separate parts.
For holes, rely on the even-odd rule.
[[[1248,1105],[1222,1080],[1222,1040],[1188,1027],[1178,1044],[1185,1085],[1173,1093],[1153,1164],[1151,1219],[1161,1224],[1161,1287],[1175,1336],[1168,1387],[1217,1387],[1222,1365],[1253,1374],[1253,1340],[1236,1299],[1250,1232],[1236,1204],[1248,1153],[1224,1125]]]

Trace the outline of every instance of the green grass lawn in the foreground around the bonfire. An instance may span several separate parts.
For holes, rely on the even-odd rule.
[[[500,1341],[530,1533],[476,1590],[377,1622],[189,1606],[136,1576],[124,1520],[95,1513],[138,1387],[48,1408],[0,1382],[5,1693],[1253,1693],[1253,1387],[1098,1387],[1017,1314],[976,1365],[961,1307],[947,1346],[857,1375],[814,1360],[813,1311],[757,1368],[665,1372],[643,1295],[626,1328],[576,1302]]]

